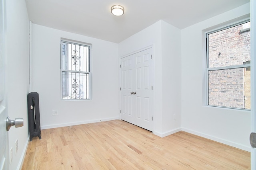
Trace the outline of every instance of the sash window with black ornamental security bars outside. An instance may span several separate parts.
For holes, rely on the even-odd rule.
[[[90,45],[61,41],[61,99],[90,99]]]

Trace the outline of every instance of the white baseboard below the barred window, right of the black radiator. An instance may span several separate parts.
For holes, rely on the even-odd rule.
[[[87,123],[96,123],[96,122],[110,121],[110,120],[116,120],[116,119],[119,119],[119,117],[110,117],[107,119],[95,119],[95,120],[88,120],[88,121],[77,121],[77,122],[72,122],[72,123],[63,123],[63,124],[55,124],[55,125],[45,125],[45,126],[41,126],[41,129],[52,129],[52,128],[56,128],[56,127],[82,125],[82,124],[87,124]]]

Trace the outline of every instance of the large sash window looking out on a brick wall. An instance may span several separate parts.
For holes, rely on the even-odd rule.
[[[208,106],[250,109],[250,21],[206,34]]]

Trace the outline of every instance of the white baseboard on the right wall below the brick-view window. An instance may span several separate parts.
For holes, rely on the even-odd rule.
[[[197,131],[192,131],[192,130],[186,129],[186,128],[182,128],[181,130],[184,131],[184,132],[194,134],[194,135],[198,135],[200,137],[204,137],[206,139],[210,139],[210,140],[213,140],[213,141],[216,141],[216,142],[219,142],[219,143],[223,143],[225,145],[229,145],[231,147],[235,147],[235,148],[238,148],[238,149],[242,149],[242,150],[246,150],[248,152],[251,152],[251,148],[248,147],[248,146],[245,146],[245,145],[241,145],[241,144],[238,144],[238,143],[227,141],[225,139],[221,139],[221,138],[214,137],[214,136],[211,136],[211,135],[207,135],[207,134],[204,134],[204,133],[200,133],[200,132],[197,132]]]

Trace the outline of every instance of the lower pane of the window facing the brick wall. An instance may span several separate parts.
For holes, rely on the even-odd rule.
[[[208,105],[250,109],[250,67],[208,71]]]

